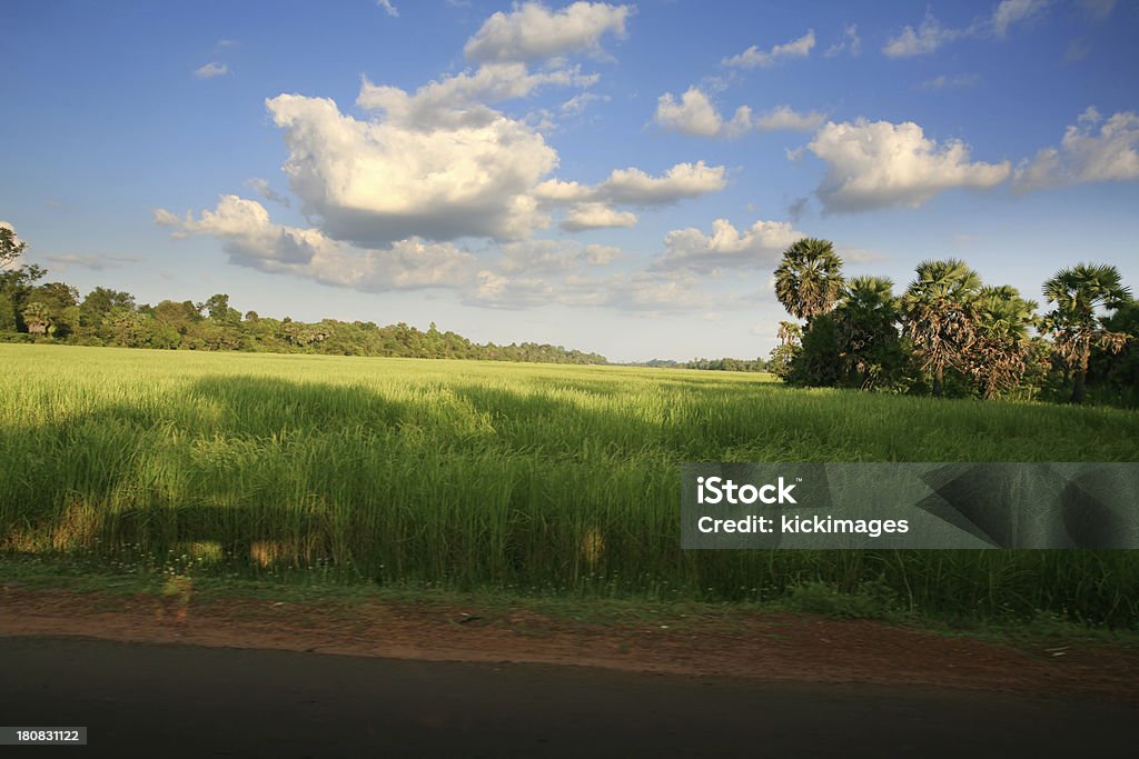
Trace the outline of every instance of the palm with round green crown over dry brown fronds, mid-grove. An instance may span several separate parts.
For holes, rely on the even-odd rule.
[[[976,299],[981,275],[964,261],[923,261],[902,296],[902,320],[933,370],[933,394],[945,388],[945,366],[961,366],[976,333]]]

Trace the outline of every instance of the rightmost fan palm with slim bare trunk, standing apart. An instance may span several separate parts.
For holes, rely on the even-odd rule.
[[[1075,370],[1072,403],[1083,403],[1087,394],[1092,344],[1118,353],[1129,337],[1105,329],[1096,311],[1114,311],[1130,297],[1131,290],[1123,286],[1120,271],[1107,264],[1076,264],[1062,269],[1044,282],[1044,298],[1056,304],[1044,317],[1046,329],[1052,333],[1065,363]]]

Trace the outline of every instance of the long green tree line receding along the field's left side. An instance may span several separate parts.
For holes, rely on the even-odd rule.
[[[26,244],[0,226],[0,266],[15,263]],[[317,323],[271,319],[231,307],[229,296],[205,302],[137,304],[130,292],[97,287],[80,298],[64,282],[43,282],[35,264],[0,269],[0,340],[189,350],[312,353],[345,356],[481,358],[558,364],[605,364],[605,356],[538,343],[485,345],[433,322],[427,331],[400,322],[325,319]]]

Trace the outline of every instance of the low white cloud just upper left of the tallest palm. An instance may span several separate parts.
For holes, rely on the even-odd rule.
[[[721,269],[746,270],[773,266],[787,247],[803,237],[787,222],[757,221],[740,232],[726,218],[712,222],[712,233],[688,228],[664,237],[664,254],[655,270],[685,269],[712,273]]]

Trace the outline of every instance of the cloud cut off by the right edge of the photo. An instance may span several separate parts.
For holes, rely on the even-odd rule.
[[[1120,112],[1105,121],[1088,108],[1064,131],[1059,147],[1044,148],[1017,166],[1013,185],[1026,191],[1134,179],[1139,179],[1139,115]]]

